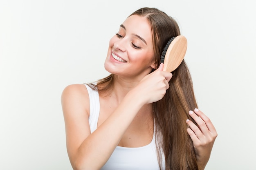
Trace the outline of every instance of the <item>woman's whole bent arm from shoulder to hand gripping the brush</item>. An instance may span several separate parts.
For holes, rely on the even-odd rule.
[[[162,71],[162,67],[145,76],[128,92],[114,112],[92,134],[88,121],[90,102],[87,89],[81,84],[64,89],[61,102],[67,152],[74,170],[99,170],[141,107],[164,96],[172,75]]]

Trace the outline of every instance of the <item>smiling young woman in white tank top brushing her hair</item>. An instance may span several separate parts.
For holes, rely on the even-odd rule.
[[[139,9],[109,42],[105,68],[111,74],[64,89],[74,170],[204,169],[217,132],[197,109],[185,62],[168,73],[159,61],[177,35],[179,27],[166,13]]]

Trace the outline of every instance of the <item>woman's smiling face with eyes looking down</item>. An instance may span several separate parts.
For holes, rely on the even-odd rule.
[[[142,78],[155,68],[151,26],[139,15],[128,17],[110,39],[105,69],[116,75]]]

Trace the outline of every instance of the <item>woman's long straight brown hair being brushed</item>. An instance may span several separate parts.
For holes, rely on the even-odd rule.
[[[131,15],[146,17],[150,22],[154,57],[158,67],[160,56],[168,40],[180,35],[177,22],[155,8],[141,8]],[[153,103],[159,166],[163,169],[161,162],[165,159],[166,170],[198,170],[193,142],[186,132],[188,112],[197,108],[191,75],[184,60],[172,73],[170,88],[166,90],[161,100]],[[100,79],[94,88],[98,91],[111,91],[114,85],[113,79],[113,74]]]

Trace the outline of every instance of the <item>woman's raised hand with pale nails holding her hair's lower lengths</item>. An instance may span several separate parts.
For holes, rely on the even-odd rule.
[[[195,120],[198,126],[188,119],[186,121],[189,125],[187,132],[193,141],[198,168],[199,170],[204,170],[209,161],[217,132],[211,120],[197,108],[194,111],[189,111],[189,115]]]

